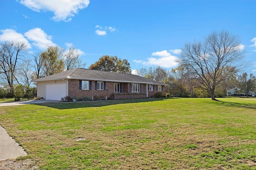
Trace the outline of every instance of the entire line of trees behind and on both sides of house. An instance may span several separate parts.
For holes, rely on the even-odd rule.
[[[48,46],[45,51],[31,57],[27,57],[27,48],[23,42],[0,44],[0,97],[12,97],[17,85],[22,84],[19,88],[25,89],[29,98],[35,95],[32,93],[35,89],[30,88],[32,79],[86,65],[73,46],[66,51],[58,46]],[[136,70],[136,74],[166,83],[166,93],[172,96],[211,97],[216,100],[216,97],[226,96],[226,90],[233,87],[240,88],[248,96],[250,91],[255,91],[256,77],[241,74],[246,67],[242,62],[245,52],[238,36],[227,31],[212,32],[203,41],[184,45],[176,60],[179,63],[177,68],[170,71],[160,66],[148,70],[142,68]],[[132,73],[127,59],[109,55],[103,55],[88,68]]]

